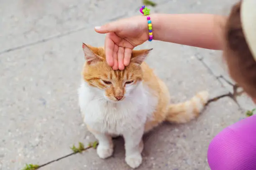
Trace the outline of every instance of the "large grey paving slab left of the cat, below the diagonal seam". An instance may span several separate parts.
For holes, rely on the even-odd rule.
[[[81,34],[86,33],[0,56],[3,170],[67,155],[69,146],[89,135],[81,126],[77,102],[84,60]]]

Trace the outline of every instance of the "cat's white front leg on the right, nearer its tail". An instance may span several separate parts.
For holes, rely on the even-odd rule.
[[[140,128],[123,134],[125,139],[125,162],[131,168],[137,168],[142,163],[143,131],[144,128]]]

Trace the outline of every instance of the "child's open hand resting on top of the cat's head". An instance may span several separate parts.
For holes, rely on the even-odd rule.
[[[136,16],[95,27],[99,33],[108,33],[105,52],[108,65],[113,70],[123,70],[130,63],[134,47],[148,40],[148,23],[144,16]]]

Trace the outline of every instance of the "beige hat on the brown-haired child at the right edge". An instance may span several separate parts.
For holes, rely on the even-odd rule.
[[[256,60],[256,0],[243,0],[241,5],[243,34]]]

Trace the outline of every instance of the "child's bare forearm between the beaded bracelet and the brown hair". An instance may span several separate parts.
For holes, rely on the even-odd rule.
[[[211,14],[152,14],[154,40],[207,49],[223,49],[225,16]]]

